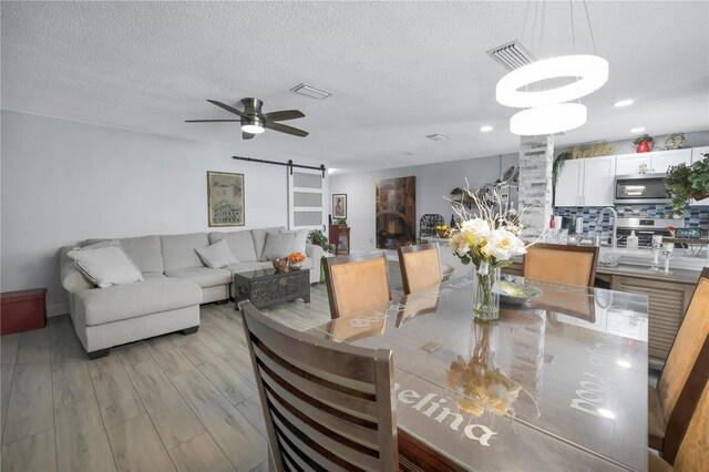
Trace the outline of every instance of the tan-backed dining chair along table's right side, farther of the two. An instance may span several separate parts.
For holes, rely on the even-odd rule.
[[[651,320],[650,320],[651,322]],[[671,458],[709,380],[709,267],[705,267],[657,380],[648,388],[648,445]],[[698,387],[699,386],[699,387]]]

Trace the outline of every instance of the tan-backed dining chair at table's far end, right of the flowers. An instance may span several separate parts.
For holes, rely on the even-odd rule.
[[[524,255],[523,276],[552,284],[593,287],[597,261],[597,247],[535,244]]]

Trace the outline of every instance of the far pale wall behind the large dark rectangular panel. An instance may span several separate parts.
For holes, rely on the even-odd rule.
[[[352,173],[330,176],[330,194],[347,194],[347,224],[350,226],[352,250],[371,250],[377,247],[376,202],[377,182],[394,177],[417,177],[417,232],[419,219],[427,213],[443,215],[449,224],[453,212],[451,204],[443,198],[450,197],[455,187],[465,187],[465,177],[470,188],[495,182],[507,167],[516,165],[518,154],[503,156],[451,161],[411,167],[398,167],[387,171]],[[330,209],[331,213],[331,209]]]

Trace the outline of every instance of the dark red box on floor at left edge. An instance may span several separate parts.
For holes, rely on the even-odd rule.
[[[29,331],[47,326],[47,288],[0,294],[0,335]]]

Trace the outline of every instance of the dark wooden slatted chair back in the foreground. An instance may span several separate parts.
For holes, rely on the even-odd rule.
[[[399,466],[389,349],[317,339],[239,302],[278,472]]]

